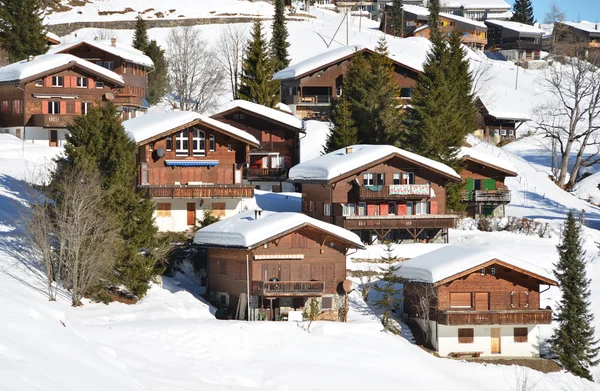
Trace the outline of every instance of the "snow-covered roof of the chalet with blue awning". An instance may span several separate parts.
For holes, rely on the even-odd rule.
[[[171,129],[176,129],[195,121],[222,130],[255,146],[260,145],[258,140],[250,133],[193,111],[153,111],[124,121],[123,126],[136,143],[141,143]]]

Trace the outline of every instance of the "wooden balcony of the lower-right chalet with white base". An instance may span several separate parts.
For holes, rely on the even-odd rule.
[[[442,311],[438,322],[447,326],[550,324],[552,310]]]

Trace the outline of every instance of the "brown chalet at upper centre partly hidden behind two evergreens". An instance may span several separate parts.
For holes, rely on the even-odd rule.
[[[344,75],[358,53],[369,56],[373,51],[357,46],[342,47],[277,72],[274,78],[281,80],[281,102],[300,118],[328,118],[331,102],[341,96]],[[419,71],[390,59],[394,64],[394,79],[400,87],[400,103],[408,104]]]

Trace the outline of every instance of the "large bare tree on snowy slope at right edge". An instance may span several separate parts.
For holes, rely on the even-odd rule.
[[[568,57],[546,71],[544,84],[553,99],[537,109],[537,129],[559,149],[557,184],[570,188],[581,167],[600,162],[600,72],[588,59]]]

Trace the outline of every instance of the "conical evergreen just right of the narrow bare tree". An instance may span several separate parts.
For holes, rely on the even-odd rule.
[[[274,64],[259,19],[252,25],[252,36],[242,61],[240,99],[275,107],[279,103],[279,81],[273,80]]]

